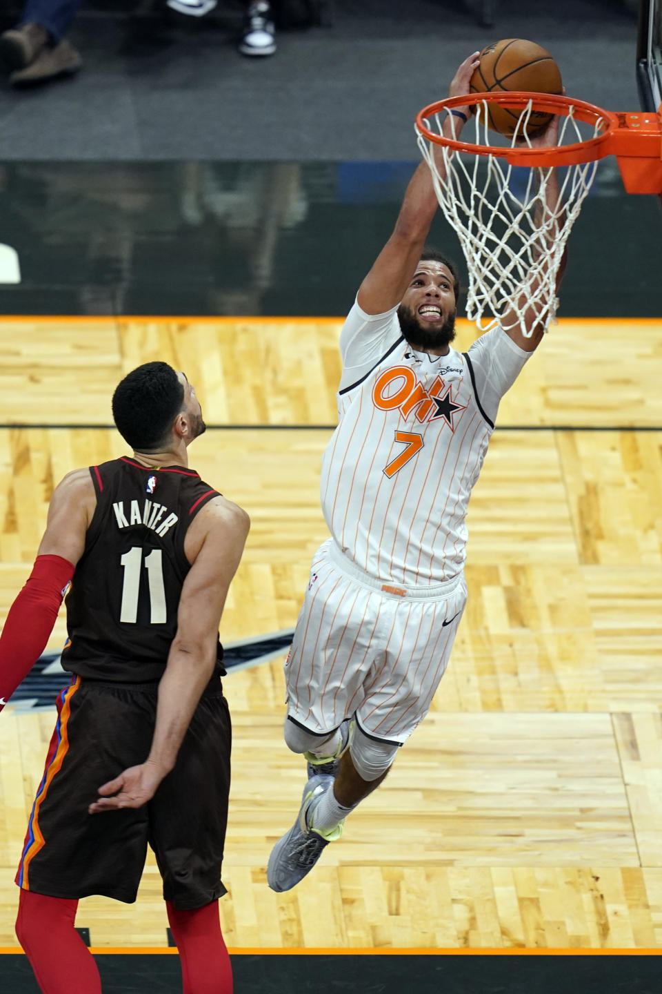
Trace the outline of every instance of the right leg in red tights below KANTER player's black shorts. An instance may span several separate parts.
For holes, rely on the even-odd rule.
[[[180,950],[184,994],[232,994],[232,968],[220,931],[218,902],[178,911],[167,901],[166,908]]]

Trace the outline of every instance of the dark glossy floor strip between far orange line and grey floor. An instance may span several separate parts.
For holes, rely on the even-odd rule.
[[[416,161],[0,164],[5,314],[341,316]],[[570,238],[562,317],[662,316],[662,211],[599,167]],[[466,269],[440,214],[433,244]],[[463,300],[460,309],[462,311]]]

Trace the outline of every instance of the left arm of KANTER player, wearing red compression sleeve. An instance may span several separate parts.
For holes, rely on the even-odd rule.
[[[68,473],[54,491],[35,565],[0,636],[0,711],[46,648],[95,503],[87,469]]]

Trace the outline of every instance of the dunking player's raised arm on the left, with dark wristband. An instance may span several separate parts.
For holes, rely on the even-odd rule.
[[[468,83],[477,65],[478,53],[474,52],[463,61],[453,78],[451,96],[468,94]],[[470,114],[468,104],[455,110],[464,117]],[[459,137],[463,124],[458,113],[449,114],[444,122],[444,134]],[[441,162],[439,169],[443,170]],[[426,162],[421,162],[407,187],[393,234],[360,285],[357,300],[367,314],[382,314],[402,300],[421,257],[437,206],[430,168]]]

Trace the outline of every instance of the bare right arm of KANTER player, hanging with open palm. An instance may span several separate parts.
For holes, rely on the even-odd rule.
[[[177,754],[216,662],[218,625],[227,591],[248,535],[245,511],[217,497],[192,525],[188,540],[195,562],[182,587],[177,635],[159,683],[152,747],[147,759],[99,787],[90,814],[113,808],[141,807],[175,765]]]

